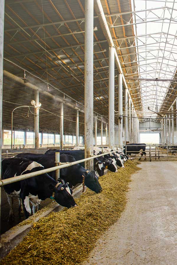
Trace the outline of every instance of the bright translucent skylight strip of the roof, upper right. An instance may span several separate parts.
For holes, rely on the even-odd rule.
[[[153,111],[161,109],[176,74],[177,2],[135,0],[132,9],[142,116],[148,117],[152,113],[148,107]]]

